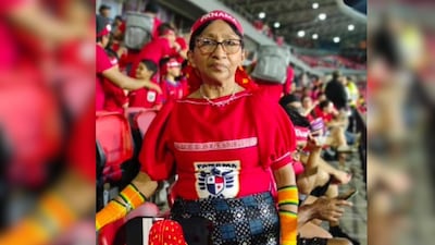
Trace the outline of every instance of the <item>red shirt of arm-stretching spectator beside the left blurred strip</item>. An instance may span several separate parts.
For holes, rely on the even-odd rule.
[[[105,53],[104,49],[97,45],[96,46],[96,73],[97,73],[97,81],[96,81],[96,110],[102,110],[104,108],[104,90],[102,88],[103,76],[102,72],[108,69],[111,69],[113,64],[110,62],[108,54]]]

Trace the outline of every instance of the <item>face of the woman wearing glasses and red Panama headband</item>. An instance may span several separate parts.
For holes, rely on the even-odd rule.
[[[238,44],[240,37],[226,22],[216,20],[207,26],[197,39],[217,42],[235,40],[234,42]],[[211,52],[203,52],[199,45],[197,41],[194,51],[188,52],[188,58],[190,64],[198,70],[202,82],[209,84],[234,83],[237,66],[241,65],[245,59],[241,46],[238,51],[228,53],[222,44]]]

